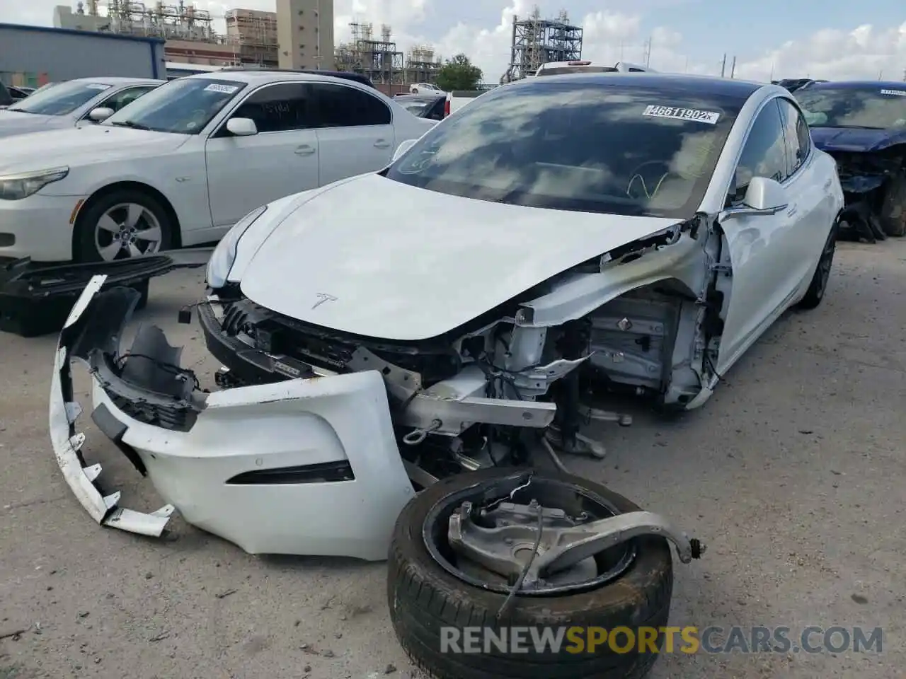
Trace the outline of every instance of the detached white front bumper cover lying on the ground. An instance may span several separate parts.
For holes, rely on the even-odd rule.
[[[198,392],[188,421],[165,428],[147,406],[168,397],[135,380],[111,379],[99,369],[103,342],[92,346],[86,339],[101,336],[99,323],[112,324],[109,334],[120,337],[120,323],[130,315],[131,309],[107,320],[103,295],[117,292],[121,300],[129,292],[95,297],[102,282],[92,279],[61,334],[51,394],[57,460],[95,521],[159,535],[172,507],[153,514],[118,510],[119,493],[105,498],[94,487],[101,468],[86,467],[77,454],[78,406],[64,387],[73,357],[92,366],[94,421],[189,523],[253,554],[387,558],[393,525],[414,491],[379,372]],[[107,354],[108,368],[121,364],[118,352],[111,356],[108,347]]]

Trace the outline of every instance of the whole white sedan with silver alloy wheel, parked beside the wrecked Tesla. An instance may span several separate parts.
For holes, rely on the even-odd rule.
[[[385,167],[435,123],[312,73],[170,81],[100,125],[5,140],[0,258],[99,262],[216,241],[255,207]]]

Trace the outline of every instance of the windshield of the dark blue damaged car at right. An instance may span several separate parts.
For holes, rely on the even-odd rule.
[[[806,88],[795,98],[813,128],[906,128],[906,83],[896,89]]]

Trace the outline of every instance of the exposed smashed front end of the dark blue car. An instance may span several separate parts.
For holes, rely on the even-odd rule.
[[[906,234],[906,145],[827,153],[836,160],[843,186],[841,237],[875,243]]]

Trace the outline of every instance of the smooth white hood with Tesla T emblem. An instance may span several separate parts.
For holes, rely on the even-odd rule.
[[[370,174],[298,206],[248,263],[241,288],[314,325],[427,339],[676,223],[490,203]]]

